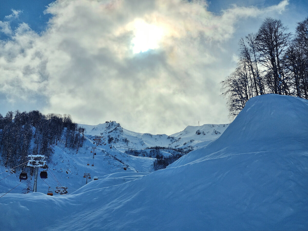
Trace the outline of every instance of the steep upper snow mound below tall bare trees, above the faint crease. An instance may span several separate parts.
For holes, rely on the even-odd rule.
[[[307,118],[308,100],[276,94],[253,97],[219,138],[170,167],[240,153],[307,147]]]

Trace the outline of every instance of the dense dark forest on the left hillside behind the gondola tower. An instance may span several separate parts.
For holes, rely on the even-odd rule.
[[[8,111],[4,117],[0,114],[2,163],[13,168],[26,162],[31,154],[44,155],[48,160],[59,142],[78,152],[85,139],[84,132],[85,128],[72,122],[71,115],[18,110]]]

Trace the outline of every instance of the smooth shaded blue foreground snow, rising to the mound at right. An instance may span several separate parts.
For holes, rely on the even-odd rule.
[[[109,174],[70,195],[6,194],[0,229],[307,230],[307,198],[308,101],[261,95],[164,170]]]

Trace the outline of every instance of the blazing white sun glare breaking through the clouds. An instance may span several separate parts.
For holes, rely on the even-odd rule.
[[[135,37],[132,39],[133,53],[145,52],[150,49],[157,49],[161,38],[163,37],[163,29],[146,23],[142,19],[134,21]]]

